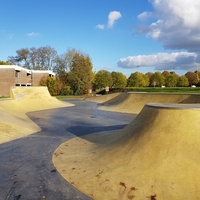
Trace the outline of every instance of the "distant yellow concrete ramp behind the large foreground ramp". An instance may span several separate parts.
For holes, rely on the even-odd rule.
[[[104,95],[106,96],[106,95]],[[103,97],[101,97],[103,99]],[[108,98],[108,97],[105,97]],[[98,101],[98,97],[96,97]],[[94,99],[95,100],[95,99]],[[147,103],[200,103],[199,94],[118,93],[114,98],[101,101],[99,109],[138,114]]]

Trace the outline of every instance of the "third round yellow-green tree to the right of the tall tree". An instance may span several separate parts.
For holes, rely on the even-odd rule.
[[[148,85],[149,85],[149,77],[140,72],[132,73],[127,80],[128,87],[145,87]]]

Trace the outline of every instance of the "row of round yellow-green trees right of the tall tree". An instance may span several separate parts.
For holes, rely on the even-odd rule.
[[[106,80],[105,80],[105,77]],[[108,72],[100,70],[95,75],[94,86],[103,88],[106,85],[110,87],[123,88],[123,87],[187,87],[187,86],[200,86],[200,73],[187,72],[183,76],[179,76],[175,72],[163,71],[146,74],[140,72],[131,73],[126,79],[122,73]]]

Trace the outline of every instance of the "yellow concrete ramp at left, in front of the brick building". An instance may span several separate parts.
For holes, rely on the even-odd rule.
[[[0,144],[40,131],[26,113],[73,106],[51,97],[47,87],[13,87],[10,93],[0,100]]]

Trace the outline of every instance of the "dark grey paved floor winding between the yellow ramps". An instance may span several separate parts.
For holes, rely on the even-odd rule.
[[[75,136],[121,129],[134,115],[106,112],[97,104],[29,113],[42,131],[0,145],[0,200],[89,200],[65,181],[52,165],[54,150]]]

